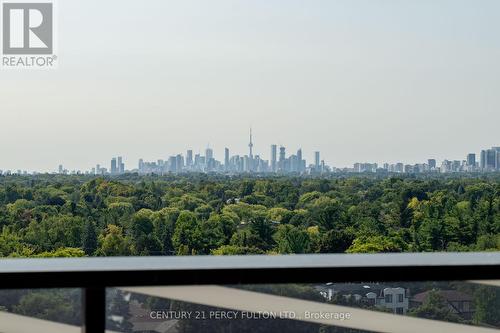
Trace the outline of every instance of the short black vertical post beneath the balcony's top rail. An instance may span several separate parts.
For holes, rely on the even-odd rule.
[[[106,330],[106,288],[82,290],[82,333],[104,333]]]

